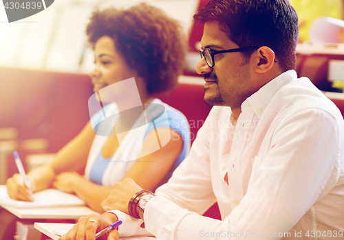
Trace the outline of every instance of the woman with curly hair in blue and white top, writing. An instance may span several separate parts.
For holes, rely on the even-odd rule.
[[[175,20],[145,4],[128,10],[94,12],[86,33],[95,58],[90,77],[102,109],[56,154],[52,163],[28,173],[32,188],[21,184],[19,174],[8,179],[10,197],[32,201],[32,192],[54,187],[74,193],[93,210],[104,212],[102,201],[124,178],[131,178],[148,190],[166,182],[189,152],[190,130],[181,112],[153,94],[167,92],[177,84],[185,55],[181,32]],[[103,99],[106,94],[100,99],[99,92],[125,79],[131,79],[133,85],[110,92],[109,99],[115,97],[116,102],[103,108],[109,99]],[[144,107],[129,109],[135,86]],[[103,132],[99,132],[98,123],[115,115],[108,122],[111,124],[105,124],[110,131],[102,128]],[[138,123],[140,119],[146,119],[142,121],[145,124]],[[157,138],[159,144],[165,143],[160,148]],[[85,177],[77,173],[83,169]]]

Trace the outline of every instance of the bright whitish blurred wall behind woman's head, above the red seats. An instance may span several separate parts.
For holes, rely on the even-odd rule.
[[[142,2],[180,21],[189,36],[199,0],[58,0],[39,14],[13,23],[0,8],[0,66],[90,72],[94,57],[85,28],[91,13],[96,8],[129,8]]]

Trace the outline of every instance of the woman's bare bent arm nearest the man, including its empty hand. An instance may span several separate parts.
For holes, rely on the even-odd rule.
[[[147,190],[153,190],[158,186],[183,148],[183,140],[178,132],[170,128],[157,128],[157,130],[161,139],[170,137],[171,134],[169,143],[154,152],[156,134],[155,131],[149,132],[144,139],[138,159],[124,177],[133,179],[139,186]],[[113,189],[92,183],[76,172],[59,174],[54,182],[54,187],[65,192],[76,193],[87,203],[87,206],[97,212],[105,212],[101,203],[107,199]]]

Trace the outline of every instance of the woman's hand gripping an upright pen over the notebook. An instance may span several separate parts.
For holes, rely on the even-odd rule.
[[[28,180],[30,181],[30,180]],[[6,188],[8,195],[11,199],[20,200],[20,201],[34,201],[32,197],[32,190],[34,183],[22,183],[21,175],[14,174],[12,177],[7,179]]]

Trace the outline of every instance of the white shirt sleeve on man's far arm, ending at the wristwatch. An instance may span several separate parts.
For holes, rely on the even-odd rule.
[[[182,208],[203,214],[216,201],[211,183],[211,164],[206,128],[209,119],[197,132],[188,157],[173,172],[171,179],[155,193]]]

